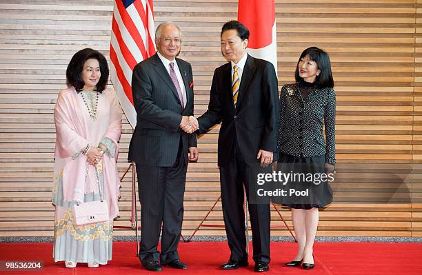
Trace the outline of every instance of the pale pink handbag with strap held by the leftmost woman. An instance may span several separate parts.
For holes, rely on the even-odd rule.
[[[87,203],[75,203],[73,205],[73,220],[76,225],[88,225],[90,223],[100,223],[110,220],[110,215],[108,214],[107,201],[104,201],[103,193],[101,192],[101,185],[99,183],[99,174],[97,166],[95,167],[95,170],[97,172],[97,184],[99,189],[100,200],[89,201]]]

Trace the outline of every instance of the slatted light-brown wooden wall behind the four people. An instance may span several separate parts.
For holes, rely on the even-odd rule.
[[[294,81],[301,51],[330,53],[337,94],[334,203],[321,212],[321,236],[422,236],[421,0],[276,0],[279,87]],[[154,0],[156,23],[183,32],[181,58],[194,71],[195,114],[205,112],[219,33],[237,18],[237,0]],[[112,1],[3,0],[0,3],[0,236],[52,236],[52,110],[72,54],[109,54]],[[219,196],[219,125],[199,139],[188,168],[183,234]],[[132,129],[123,121],[119,172],[128,167]],[[121,218],[129,225],[130,174]],[[410,198],[410,196],[412,196]],[[209,223],[222,224],[218,203]],[[290,211],[278,207],[291,225]],[[272,211],[272,224],[281,225]],[[132,236],[116,230],[116,236]],[[224,235],[204,227],[197,235]],[[272,235],[287,236],[284,228]]]

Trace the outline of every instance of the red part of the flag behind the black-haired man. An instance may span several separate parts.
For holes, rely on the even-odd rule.
[[[272,43],[274,0],[239,0],[238,19],[250,31],[248,48],[264,48]]]

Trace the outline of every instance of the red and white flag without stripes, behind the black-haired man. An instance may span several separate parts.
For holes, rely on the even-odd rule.
[[[270,61],[277,74],[277,30],[274,0],[239,0],[239,22],[250,31],[248,53]]]

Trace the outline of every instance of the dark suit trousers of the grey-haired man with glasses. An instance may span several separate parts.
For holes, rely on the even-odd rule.
[[[183,221],[183,195],[187,164],[183,159],[182,143],[175,163],[170,167],[137,163],[139,198],[141,201],[141,263],[159,261],[165,265],[179,258]],[[161,253],[157,250],[161,232]]]

